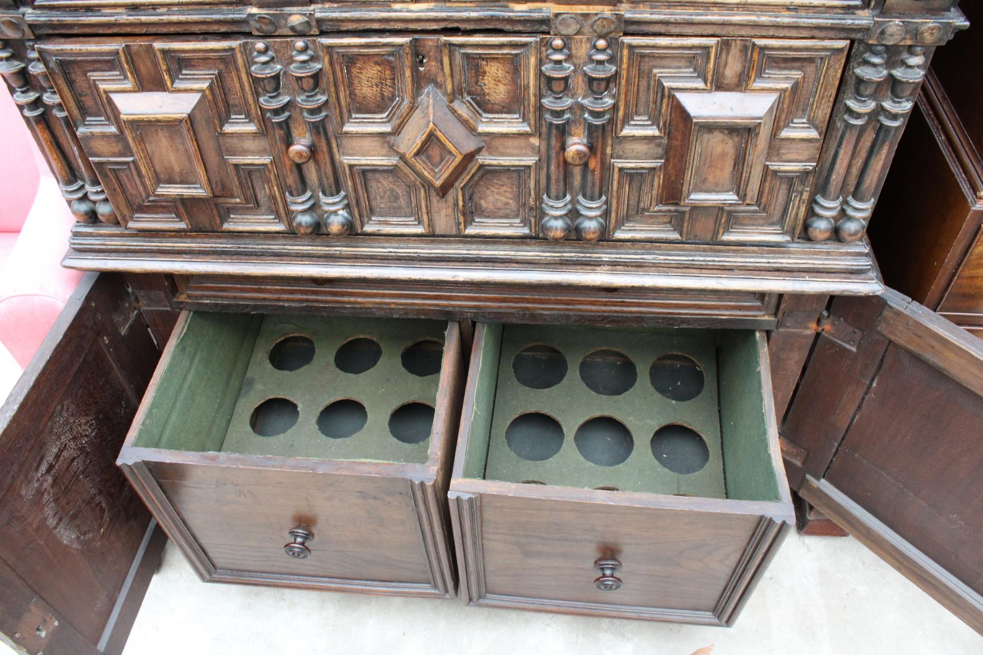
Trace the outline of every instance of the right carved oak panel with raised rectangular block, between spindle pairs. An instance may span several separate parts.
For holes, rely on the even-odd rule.
[[[621,38],[608,238],[797,239],[847,46]]]

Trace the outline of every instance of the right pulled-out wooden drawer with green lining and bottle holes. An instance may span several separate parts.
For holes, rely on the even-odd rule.
[[[753,331],[480,324],[450,483],[466,602],[729,625],[793,520]]]

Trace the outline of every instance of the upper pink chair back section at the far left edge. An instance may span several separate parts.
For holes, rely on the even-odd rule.
[[[2,89],[6,91],[7,89]],[[0,92],[0,233],[20,232],[34,202],[40,171],[34,159],[37,146],[10,93]]]

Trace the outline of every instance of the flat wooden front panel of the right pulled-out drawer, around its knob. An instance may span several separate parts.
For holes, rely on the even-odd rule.
[[[486,596],[719,614],[762,521],[618,505],[482,495]],[[614,559],[621,586],[601,590],[595,563]],[[737,573],[735,573],[737,572]],[[696,618],[696,617],[691,617]],[[709,616],[708,616],[709,618]]]

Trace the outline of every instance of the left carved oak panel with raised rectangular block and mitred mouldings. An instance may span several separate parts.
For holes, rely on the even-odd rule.
[[[288,228],[244,48],[142,38],[38,46],[123,225]]]

